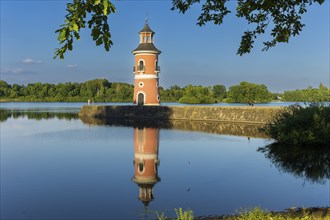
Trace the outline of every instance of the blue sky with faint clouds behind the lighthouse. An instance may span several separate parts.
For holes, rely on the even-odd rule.
[[[64,23],[66,0],[0,0],[0,79],[10,84],[84,82],[105,78],[133,84],[134,50],[138,32],[148,16],[156,32],[160,86],[237,85],[242,81],[265,84],[271,92],[329,87],[330,2],[308,7],[306,25],[289,44],[262,52],[270,30],[256,39],[250,54],[236,55],[244,31],[253,29],[233,10],[220,26],[196,25],[201,5],[186,14],[171,11],[170,0],[113,1],[117,11],[109,17],[113,46],[109,52],[95,46],[87,28],[65,59],[53,59],[59,47],[55,30]],[[235,9],[236,1],[229,3]]]

